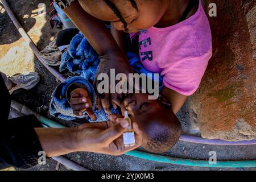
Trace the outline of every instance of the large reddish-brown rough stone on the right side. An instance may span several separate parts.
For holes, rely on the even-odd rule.
[[[256,139],[256,0],[207,0],[207,12],[211,2],[213,57],[189,98],[191,122],[203,138]]]

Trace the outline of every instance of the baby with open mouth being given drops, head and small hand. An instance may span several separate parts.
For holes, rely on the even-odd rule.
[[[92,109],[90,94],[84,86],[71,86],[67,96],[74,114],[81,116],[85,111],[92,120],[97,119]],[[148,94],[127,94],[122,99],[120,108],[122,115],[128,111],[131,121],[141,127],[142,146],[146,150],[154,153],[166,152],[179,140],[180,122],[164,97],[148,100]]]

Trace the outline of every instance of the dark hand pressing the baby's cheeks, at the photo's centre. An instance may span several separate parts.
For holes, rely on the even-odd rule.
[[[110,77],[111,69],[114,69],[114,78]],[[115,80],[115,76],[118,73],[124,73],[128,78],[129,73],[133,73],[133,69],[131,69],[129,61],[125,58],[125,56],[123,56],[123,53],[108,53],[106,56],[101,56],[98,72],[94,80],[94,86],[97,89],[97,93],[99,93],[102,89],[101,87],[98,88],[98,84],[102,82],[102,80],[98,80],[98,75],[100,75],[100,73],[106,73],[106,75],[109,77],[109,92],[98,94],[97,108],[101,109],[101,107],[103,107],[105,112],[110,114],[110,106],[113,105],[114,108],[116,108],[121,104],[120,99],[122,98],[122,94],[117,94],[115,90],[115,85],[117,82],[119,82],[118,80]],[[111,80],[115,83],[114,85],[110,85],[110,79],[114,79]],[[114,86],[114,88],[112,88],[114,93],[110,93],[111,86]]]

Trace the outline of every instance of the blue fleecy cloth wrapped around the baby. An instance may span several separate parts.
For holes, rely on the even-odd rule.
[[[137,54],[128,52],[127,57],[129,63],[136,73],[152,73],[147,71],[141,64]],[[82,117],[78,117],[73,114],[71,106],[67,100],[66,93],[67,89],[72,84],[84,85],[85,89],[88,90],[90,98],[92,100],[93,110],[96,114],[97,121],[107,121],[108,115],[104,110],[96,110],[96,93],[93,88],[94,77],[96,76],[98,65],[100,63],[100,56],[94,51],[89,42],[84,38],[81,32],[77,34],[69,44],[69,48],[65,51],[61,58],[60,72],[68,70],[71,73],[76,73],[79,76],[71,77],[59,84],[52,94],[50,104],[50,114],[53,117],[65,119],[71,121],[76,118],[84,118],[92,122],[92,120],[84,113]],[[154,77],[152,78],[154,81]],[[163,77],[159,76],[160,89],[163,88]],[[160,91],[159,91],[160,92]],[[117,114],[118,111],[111,108],[113,114]]]

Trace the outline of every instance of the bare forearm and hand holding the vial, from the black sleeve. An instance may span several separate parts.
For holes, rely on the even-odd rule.
[[[141,146],[142,131],[137,123],[133,123],[135,145],[125,147],[121,135],[129,123],[115,115],[110,115],[109,119],[108,122],[85,123],[73,128],[35,128],[35,131],[47,157],[71,152],[121,155]],[[117,119],[119,120],[117,121]]]

